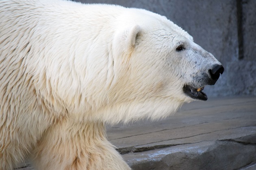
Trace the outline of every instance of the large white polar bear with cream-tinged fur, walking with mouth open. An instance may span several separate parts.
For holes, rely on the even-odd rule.
[[[128,170],[104,124],[207,100],[223,66],[166,17],[63,0],[0,2],[0,169]]]

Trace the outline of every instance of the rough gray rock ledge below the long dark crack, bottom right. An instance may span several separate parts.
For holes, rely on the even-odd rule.
[[[217,140],[127,154],[124,158],[133,170],[235,170],[256,160],[255,149],[256,144]]]

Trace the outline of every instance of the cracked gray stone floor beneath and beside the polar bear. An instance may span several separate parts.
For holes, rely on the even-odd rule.
[[[107,132],[133,170],[256,170],[256,96],[192,102],[165,120]]]

